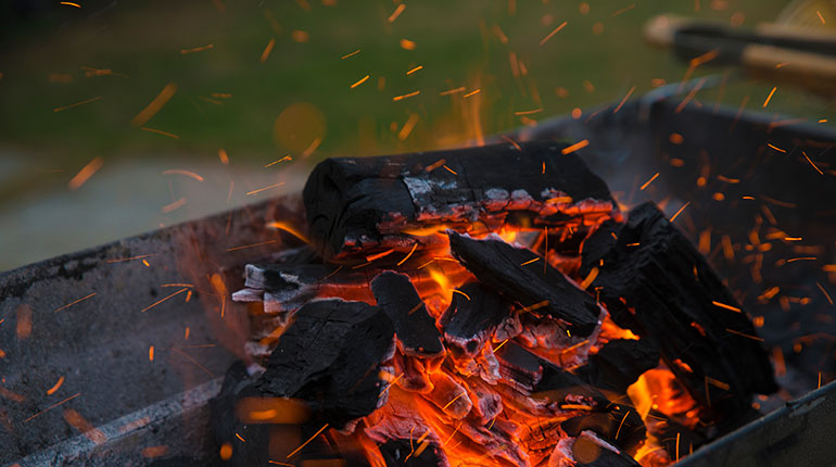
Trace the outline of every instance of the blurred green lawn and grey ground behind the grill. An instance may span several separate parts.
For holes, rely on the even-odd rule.
[[[697,104],[829,125],[832,98],[643,38],[667,12],[836,23],[797,3],[2,1],[0,270],[296,191],[328,156],[478,143],[706,75]]]

